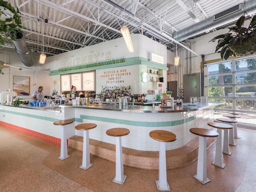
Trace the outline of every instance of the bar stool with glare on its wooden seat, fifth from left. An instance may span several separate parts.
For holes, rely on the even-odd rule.
[[[211,180],[207,178],[207,159],[206,159],[206,137],[218,137],[218,133],[213,130],[204,128],[191,128],[191,133],[199,136],[197,172],[193,177],[202,184],[206,184]]]

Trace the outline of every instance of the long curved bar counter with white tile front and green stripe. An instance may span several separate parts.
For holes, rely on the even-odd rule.
[[[132,106],[119,108],[116,104],[60,106],[60,110],[47,110],[32,107],[12,107],[0,105],[0,125],[30,133],[47,142],[60,144],[60,129],[54,126],[57,120],[72,119],[67,125],[67,138],[74,135],[83,136],[75,126],[81,123],[95,123],[97,127],[90,130],[90,138],[101,142],[115,144],[115,139],[106,135],[110,128],[128,128],[130,134],[122,138],[122,146],[134,150],[158,151],[159,143],[150,138],[152,130],[166,130],[177,136],[175,142],[166,144],[166,150],[180,148],[196,136],[190,128],[211,129],[207,125],[213,121],[213,108],[222,102],[201,102],[196,106],[184,104],[173,108],[160,106]],[[32,134],[31,134],[32,133]]]

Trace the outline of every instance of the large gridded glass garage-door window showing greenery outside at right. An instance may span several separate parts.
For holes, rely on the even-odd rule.
[[[225,102],[216,106],[218,117],[227,111],[239,110],[244,118],[237,120],[255,127],[255,122],[250,120],[256,118],[256,56],[204,64],[204,73],[209,101]]]

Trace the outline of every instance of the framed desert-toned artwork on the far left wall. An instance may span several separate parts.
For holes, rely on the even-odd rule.
[[[17,95],[29,95],[30,77],[13,76],[13,91]]]

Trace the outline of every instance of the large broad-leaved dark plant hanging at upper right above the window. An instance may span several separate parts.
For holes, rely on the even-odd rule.
[[[218,35],[209,42],[218,40],[215,52],[221,48],[221,58],[227,60],[230,56],[246,56],[256,54],[256,16],[253,16],[249,27],[244,27],[245,15],[242,15],[235,26],[229,27],[229,32]],[[230,33],[232,32],[232,33]]]

